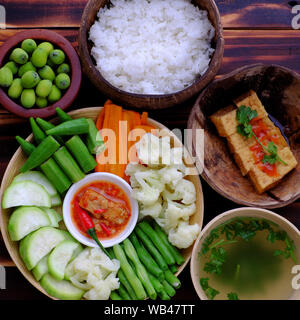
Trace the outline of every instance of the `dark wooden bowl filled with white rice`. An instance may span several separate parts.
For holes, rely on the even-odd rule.
[[[141,7],[149,5],[146,0],[87,3],[78,41],[83,72],[113,101],[133,108],[172,107],[199,93],[217,74],[224,38],[215,2],[168,1],[151,0],[151,10]],[[131,9],[124,9],[128,4]]]

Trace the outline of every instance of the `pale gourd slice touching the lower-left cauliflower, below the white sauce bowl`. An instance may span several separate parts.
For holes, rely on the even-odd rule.
[[[48,259],[49,274],[57,280],[63,280],[65,269],[80,243],[66,240],[61,242],[50,254]]]

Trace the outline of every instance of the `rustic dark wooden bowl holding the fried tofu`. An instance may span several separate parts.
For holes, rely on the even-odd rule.
[[[276,65],[255,64],[237,69],[210,84],[197,99],[188,120],[190,150],[195,151],[195,130],[204,129],[202,177],[222,196],[242,205],[262,208],[286,206],[300,196],[300,164],[270,191],[258,194],[243,177],[209,116],[253,89],[267,112],[281,123],[290,148],[300,162],[300,76]]]

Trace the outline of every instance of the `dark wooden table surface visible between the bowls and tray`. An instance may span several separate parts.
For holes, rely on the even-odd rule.
[[[6,29],[0,30],[0,43],[15,33],[28,28],[49,28],[69,39],[77,48],[78,27],[87,0],[2,0],[6,9]],[[280,64],[300,73],[300,30],[292,28],[292,7],[300,1],[287,0],[216,0],[222,15],[225,53],[217,77],[235,68],[257,63]],[[300,13],[300,10],[299,10]],[[298,19],[300,23],[300,18]],[[83,79],[80,94],[71,109],[99,106],[106,97]],[[150,116],[170,129],[184,129],[196,97],[170,110],[150,112]],[[30,133],[27,122],[0,107],[0,178],[17,149],[15,135]],[[237,207],[213,191],[203,180],[204,224],[216,215]],[[300,203],[274,210],[300,228]],[[299,211],[299,214],[298,214]],[[1,300],[48,299],[31,286],[11,261],[0,236],[0,265],[6,270],[6,289],[0,290]],[[190,279],[189,265],[180,275],[182,288],[175,300],[198,299]]]

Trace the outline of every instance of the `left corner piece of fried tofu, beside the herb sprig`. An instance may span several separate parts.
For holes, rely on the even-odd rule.
[[[236,127],[238,125],[236,111],[237,109],[230,105],[217,111],[210,117],[221,137],[227,137],[236,133]]]

